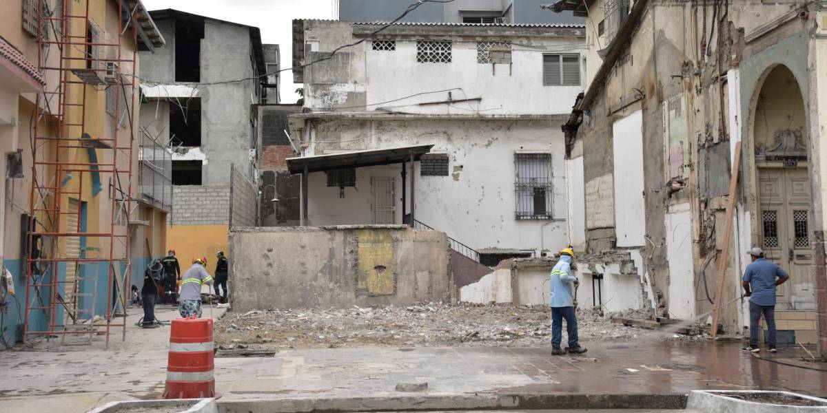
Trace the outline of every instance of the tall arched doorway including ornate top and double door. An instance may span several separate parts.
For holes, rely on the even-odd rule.
[[[791,275],[777,290],[777,310],[815,310],[812,208],[801,88],[779,64],[764,78],[753,111],[758,235],[767,259]]]

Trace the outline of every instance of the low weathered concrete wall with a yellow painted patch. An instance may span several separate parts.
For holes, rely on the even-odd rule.
[[[233,228],[233,308],[449,301],[448,240],[401,225]]]

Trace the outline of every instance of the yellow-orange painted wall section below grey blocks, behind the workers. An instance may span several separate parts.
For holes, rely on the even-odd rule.
[[[193,258],[206,257],[207,270],[212,273],[215,268],[215,254],[218,251],[229,254],[229,230],[228,225],[171,225],[166,231],[166,246],[167,249],[175,249],[182,271],[189,268]]]

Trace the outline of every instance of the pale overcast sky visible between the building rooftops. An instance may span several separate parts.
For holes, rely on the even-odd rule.
[[[334,18],[332,0],[143,0],[149,10],[173,8],[181,12],[233,21],[261,29],[261,41],[281,49],[281,67],[292,63],[293,19]],[[281,102],[293,103],[300,85],[293,74],[281,73]]]

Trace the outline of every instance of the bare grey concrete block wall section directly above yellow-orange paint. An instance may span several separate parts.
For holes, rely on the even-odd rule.
[[[172,189],[171,225],[227,224],[229,185],[177,185]]]

